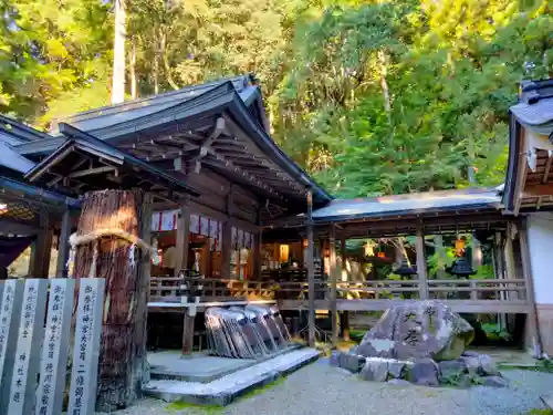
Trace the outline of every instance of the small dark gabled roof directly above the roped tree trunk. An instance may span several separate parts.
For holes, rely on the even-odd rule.
[[[71,196],[135,187],[145,188],[161,200],[199,196],[198,190],[149,163],[70,125],[60,127],[66,139],[25,174],[27,180]]]

